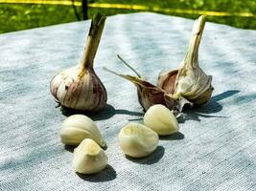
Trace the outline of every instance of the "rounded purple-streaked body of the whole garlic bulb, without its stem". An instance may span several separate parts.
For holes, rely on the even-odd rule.
[[[79,67],[67,69],[51,81],[51,93],[62,106],[97,112],[105,107],[105,86],[93,69],[81,71]]]

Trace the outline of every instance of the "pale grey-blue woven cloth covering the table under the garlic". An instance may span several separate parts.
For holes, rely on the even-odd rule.
[[[0,35],[0,190],[255,190],[256,32],[207,23],[199,63],[213,75],[212,100],[186,112],[180,133],[161,138],[145,159],[127,159],[117,135],[141,121],[135,87],[102,70],[132,74],[120,53],[155,83],[178,68],[194,21],[155,13],[110,16],[95,70],[108,106],[92,117],[108,148],[109,165],[94,176],[71,168],[73,153],[59,141],[65,118],[49,82],[78,63],[89,21]]]

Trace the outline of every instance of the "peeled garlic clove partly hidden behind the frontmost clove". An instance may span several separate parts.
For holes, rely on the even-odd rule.
[[[84,138],[91,138],[105,148],[105,140],[95,122],[83,115],[67,117],[61,124],[61,142],[66,145],[77,146]]]

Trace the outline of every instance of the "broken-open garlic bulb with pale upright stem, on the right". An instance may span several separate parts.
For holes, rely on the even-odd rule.
[[[204,25],[205,16],[200,16],[195,22],[188,51],[181,63],[183,67],[160,75],[157,84],[175,100],[187,99],[195,106],[208,102],[214,90],[212,76],[205,74],[198,65],[198,48]]]

